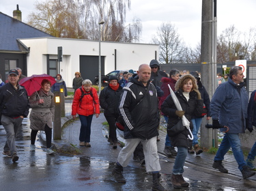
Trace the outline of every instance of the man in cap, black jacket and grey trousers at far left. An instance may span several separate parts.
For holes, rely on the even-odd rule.
[[[18,85],[18,71],[13,69],[8,74],[9,83],[0,88],[1,123],[7,134],[3,154],[18,160],[15,137],[24,117],[29,114],[29,99],[24,87]]]

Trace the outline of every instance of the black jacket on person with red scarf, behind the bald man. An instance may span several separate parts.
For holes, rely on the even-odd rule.
[[[116,115],[119,113],[118,106],[121,93],[121,85],[119,85],[117,91],[111,89],[109,85],[100,91],[100,106],[104,108],[105,114]]]

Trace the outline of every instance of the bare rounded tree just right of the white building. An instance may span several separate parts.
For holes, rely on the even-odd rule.
[[[177,33],[175,25],[162,23],[153,37],[154,44],[159,44],[160,63],[182,63],[184,61],[184,42]]]

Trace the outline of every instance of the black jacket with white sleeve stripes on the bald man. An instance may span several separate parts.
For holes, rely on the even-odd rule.
[[[123,88],[119,111],[126,123],[124,138],[150,139],[158,136],[158,98],[152,83],[148,82],[145,87],[137,78],[131,78]]]

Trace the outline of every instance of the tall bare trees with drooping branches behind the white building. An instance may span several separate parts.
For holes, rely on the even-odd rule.
[[[36,3],[28,24],[55,37],[99,39],[99,21],[102,40],[136,42],[141,35],[139,19],[125,25],[130,0],[50,0]]]

